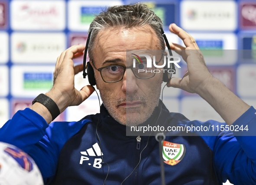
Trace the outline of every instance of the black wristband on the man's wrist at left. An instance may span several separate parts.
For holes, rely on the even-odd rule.
[[[39,94],[32,101],[32,105],[36,102],[41,103],[50,111],[50,113],[52,115],[52,120],[54,120],[60,114],[60,110],[59,110],[57,104],[50,97],[48,97],[44,94]]]

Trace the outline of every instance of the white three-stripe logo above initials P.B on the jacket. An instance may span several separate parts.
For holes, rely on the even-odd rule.
[[[83,164],[84,161],[90,162],[89,157],[87,156],[102,156],[103,153],[100,151],[100,147],[98,143],[95,143],[94,145],[92,145],[91,148],[87,149],[86,151],[81,151],[80,152],[81,155],[81,159],[80,159],[80,164]],[[102,163],[102,159],[101,158],[95,158],[94,159],[94,163],[93,163],[93,167],[94,168],[101,168],[101,163]],[[91,163],[87,163],[89,166],[91,166]]]

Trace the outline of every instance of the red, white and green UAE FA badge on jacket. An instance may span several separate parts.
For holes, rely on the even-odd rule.
[[[186,148],[184,144],[162,141],[162,154],[164,162],[169,165],[178,164],[185,156]]]

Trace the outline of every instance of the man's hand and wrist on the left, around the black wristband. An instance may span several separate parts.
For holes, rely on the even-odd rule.
[[[75,89],[74,78],[78,72],[83,71],[83,64],[74,67],[72,59],[83,55],[84,48],[84,44],[71,46],[57,58],[53,87],[45,95],[55,101],[60,113],[68,106],[79,105],[95,90],[91,85],[84,86],[80,91]],[[39,113],[46,122],[50,123],[52,121],[49,110],[41,103],[36,102],[30,109]]]

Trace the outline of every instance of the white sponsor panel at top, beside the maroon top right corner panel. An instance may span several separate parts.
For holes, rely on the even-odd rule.
[[[233,31],[236,18],[236,2],[231,0],[181,2],[181,26],[185,29]]]

